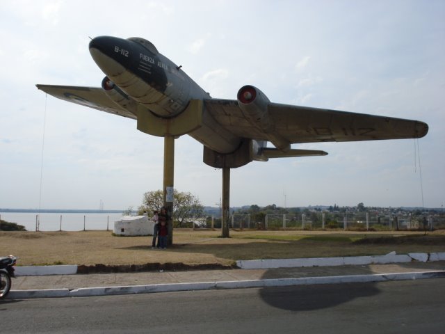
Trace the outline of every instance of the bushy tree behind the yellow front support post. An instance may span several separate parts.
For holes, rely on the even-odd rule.
[[[144,194],[143,204],[139,207],[139,212],[161,211],[163,207],[163,191],[148,191]],[[173,191],[173,221],[177,221],[179,226],[183,223],[190,223],[194,218],[202,217],[204,206],[200,200],[192,193]]]

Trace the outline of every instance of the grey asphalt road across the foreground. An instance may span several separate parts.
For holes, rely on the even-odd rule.
[[[0,302],[3,333],[443,333],[445,280]]]

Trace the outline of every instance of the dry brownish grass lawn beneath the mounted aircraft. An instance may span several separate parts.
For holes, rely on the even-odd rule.
[[[220,231],[176,229],[173,246],[152,250],[152,237],[114,237],[111,232],[0,232],[0,255],[21,266],[79,264],[213,264],[236,260],[445,252],[445,231]]]

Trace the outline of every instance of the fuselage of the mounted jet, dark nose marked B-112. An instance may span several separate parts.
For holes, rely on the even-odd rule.
[[[191,100],[209,100],[210,95],[143,38],[115,38],[100,36],[90,42],[90,54],[112,84],[127,95],[124,107],[138,104],[147,113],[159,118],[175,118],[184,112]],[[104,87],[104,80],[102,86]],[[109,82],[108,82],[109,84]],[[105,86],[104,89],[113,86]],[[133,103],[134,105],[135,103]],[[122,104],[121,104],[122,106]],[[241,145],[242,138],[222,127],[206,110],[202,123],[188,133],[215,152],[228,154]]]

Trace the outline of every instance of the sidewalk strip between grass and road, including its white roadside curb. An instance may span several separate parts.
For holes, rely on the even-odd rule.
[[[445,278],[445,261],[275,269],[19,276],[13,279],[13,289],[8,299],[104,296],[423,278]]]

